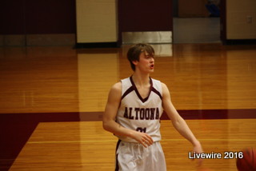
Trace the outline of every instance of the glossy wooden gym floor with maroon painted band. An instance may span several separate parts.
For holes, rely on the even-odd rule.
[[[110,86],[132,74],[127,48],[0,47],[0,170],[114,170],[117,138],[101,119]],[[154,49],[151,77],[169,87],[205,152],[222,154],[197,168],[164,113],[167,170],[236,170],[225,152],[256,148],[256,46]]]

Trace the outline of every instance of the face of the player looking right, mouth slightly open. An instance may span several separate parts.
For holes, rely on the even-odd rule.
[[[154,55],[148,54],[146,51],[142,52],[139,56],[139,61],[135,61],[134,65],[136,70],[140,70],[144,73],[154,72]]]

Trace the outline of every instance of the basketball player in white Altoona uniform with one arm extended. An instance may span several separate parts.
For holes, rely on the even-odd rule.
[[[119,139],[115,170],[166,170],[159,142],[163,109],[178,133],[194,145],[194,152],[202,153],[200,142],[174,108],[167,86],[150,78],[154,72],[152,46],[132,46],[127,58],[134,74],[112,86],[103,115],[103,128]]]

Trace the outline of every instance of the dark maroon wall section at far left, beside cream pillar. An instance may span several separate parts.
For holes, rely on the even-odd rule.
[[[2,0],[0,34],[74,34],[75,0]]]

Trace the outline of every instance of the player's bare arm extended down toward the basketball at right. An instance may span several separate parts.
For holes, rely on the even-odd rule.
[[[194,145],[194,152],[203,153],[202,146],[200,142],[194,137],[194,134],[190,130],[186,121],[178,114],[177,110],[174,108],[173,103],[170,100],[170,92],[165,84],[162,83],[162,105],[165,109],[168,117],[172,121],[174,128],[178,130],[183,137]]]

